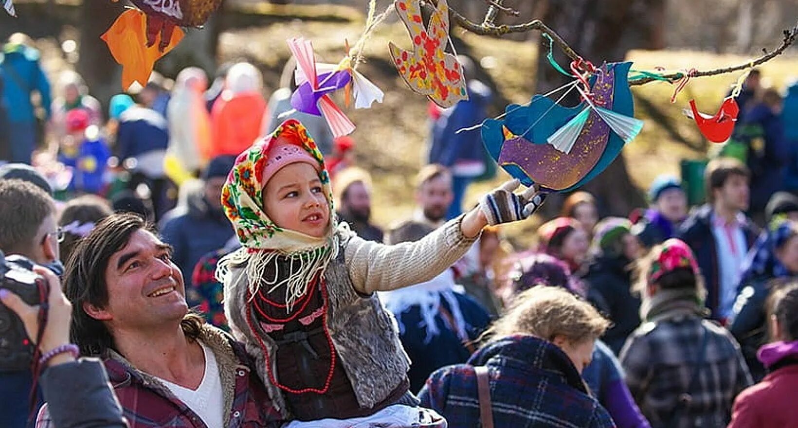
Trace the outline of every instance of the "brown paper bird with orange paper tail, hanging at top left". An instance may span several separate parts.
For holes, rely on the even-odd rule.
[[[117,2],[118,0],[112,0]],[[109,43],[113,58],[122,65],[122,87],[133,80],[146,84],[155,61],[183,38],[177,26],[200,27],[219,8],[222,0],[131,0],[140,18],[124,11],[101,37]],[[124,18],[123,18],[124,17]],[[141,21],[141,24],[139,24]],[[140,46],[136,46],[140,45]],[[152,51],[152,48],[155,51]],[[128,79],[124,78],[125,70]]]

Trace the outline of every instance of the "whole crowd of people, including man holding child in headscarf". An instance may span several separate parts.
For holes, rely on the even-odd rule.
[[[798,85],[752,73],[705,204],[669,175],[627,217],[577,191],[520,247],[544,192],[465,198],[496,175],[457,132],[478,80],[430,105],[416,210],[381,227],[354,140],[254,65],[106,112],[74,72],[51,102],[26,36],[3,52],[0,251],[45,281],[0,288],[33,355],[0,426],[798,425]]]

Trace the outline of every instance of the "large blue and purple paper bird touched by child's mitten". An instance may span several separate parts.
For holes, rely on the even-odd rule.
[[[503,120],[482,124],[488,153],[526,186],[570,191],[599,175],[642,129],[626,80],[631,63],[605,64],[591,77],[591,94],[566,108],[536,95],[511,104]],[[574,88],[579,88],[572,84]]]

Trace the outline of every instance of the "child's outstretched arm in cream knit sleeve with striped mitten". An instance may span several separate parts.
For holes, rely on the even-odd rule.
[[[542,204],[544,194],[529,188],[514,194],[517,180],[485,194],[480,206],[440,226],[419,241],[383,245],[350,238],[344,254],[354,288],[360,293],[401,289],[429,281],[463,257],[488,224],[527,218]]]

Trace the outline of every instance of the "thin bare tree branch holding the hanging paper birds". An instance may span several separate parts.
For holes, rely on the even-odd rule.
[[[575,52],[574,49],[571,48],[570,45],[568,45],[567,41],[563,40],[563,37],[559,37],[559,34],[557,34],[553,29],[546,26],[546,24],[543,24],[543,22],[540,21],[539,19],[535,19],[530,22],[525,22],[523,24],[516,24],[513,26],[494,25],[493,22],[496,19],[496,14],[498,14],[499,10],[497,9],[497,6],[504,7],[501,6],[501,1],[502,0],[493,0],[493,2],[498,4],[488,7],[488,13],[485,14],[485,19],[484,22],[482,22],[482,24],[477,24],[476,22],[472,22],[468,18],[465,18],[463,14],[460,14],[460,12],[452,8],[449,8],[449,14],[451,15],[452,20],[455,22],[457,26],[466,29],[468,31],[471,31],[472,33],[480,35],[502,36],[507,33],[528,33],[530,31],[539,31],[541,33],[548,34],[548,36],[551,37],[551,39],[554,41],[555,45],[557,45],[557,47],[561,49],[563,53],[565,53],[572,60],[576,61],[582,58],[581,56],[579,56],[578,53]],[[431,0],[431,2],[437,3],[437,0]],[[765,62],[768,62],[773,58],[778,57],[781,53],[783,53],[784,50],[786,50],[790,45],[792,45],[792,43],[796,40],[796,37],[798,37],[798,22],[796,22],[796,26],[793,27],[792,29],[784,30],[784,39],[781,41],[781,44],[779,45],[778,48],[776,48],[776,50],[773,50],[770,53],[768,53],[765,50],[762,56],[757,57],[756,59],[753,59],[752,61],[749,61],[745,64],[734,65],[731,67],[725,67],[721,69],[697,71],[696,73],[692,73],[690,76],[691,77],[716,76],[718,74],[733,73],[736,71],[748,69],[750,67],[755,67],[760,64],[764,64]],[[674,83],[675,81],[681,79],[682,77],[685,77],[685,73],[670,73],[662,76],[662,78],[659,79],[655,79],[654,77],[644,77],[639,80],[630,81],[629,84],[630,86],[638,86],[640,84],[647,84],[653,81],[662,81],[662,80],[667,80],[670,83]]]

